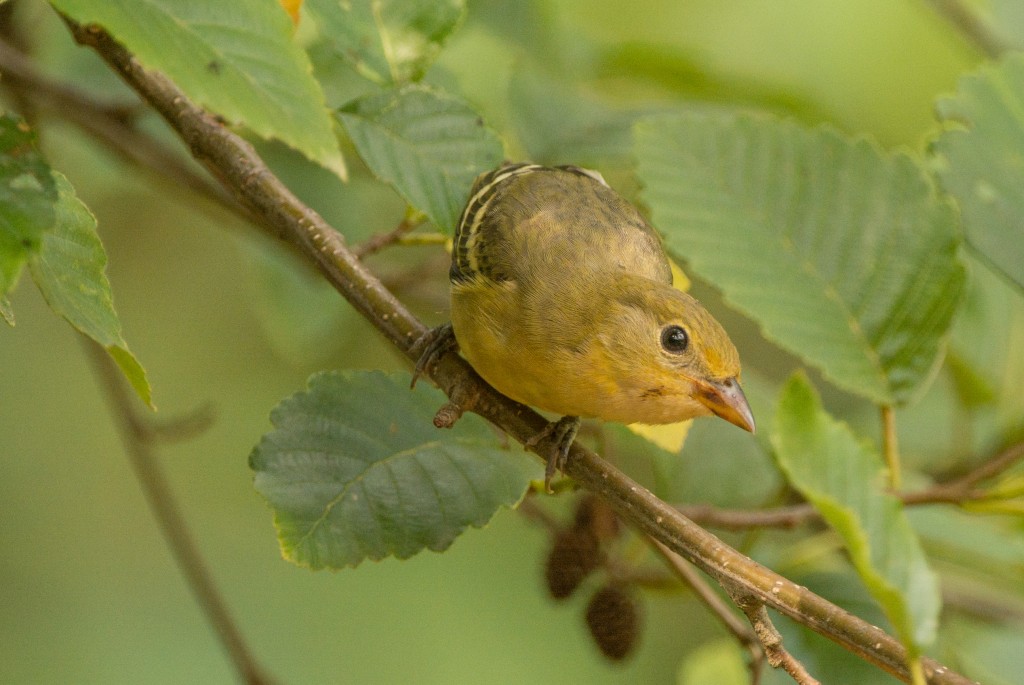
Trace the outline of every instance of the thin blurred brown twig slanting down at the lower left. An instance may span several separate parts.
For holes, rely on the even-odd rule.
[[[188,588],[219,636],[239,676],[248,685],[269,685],[273,681],[257,666],[178,510],[170,484],[160,469],[153,448],[156,433],[136,413],[134,396],[125,388],[124,380],[106,351],[92,341],[83,339],[83,345],[106,394],[111,416],[117,422],[132,470],[160,531],[174,554],[178,569],[188,582]]]

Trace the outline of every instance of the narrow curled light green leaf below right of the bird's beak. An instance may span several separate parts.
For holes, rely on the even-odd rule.
[[[911,656],[935,638],[938,577],[871,446],[833,419],[801,373],[783,387],[772,433],[790,482],[844,540],[854,567]]]

